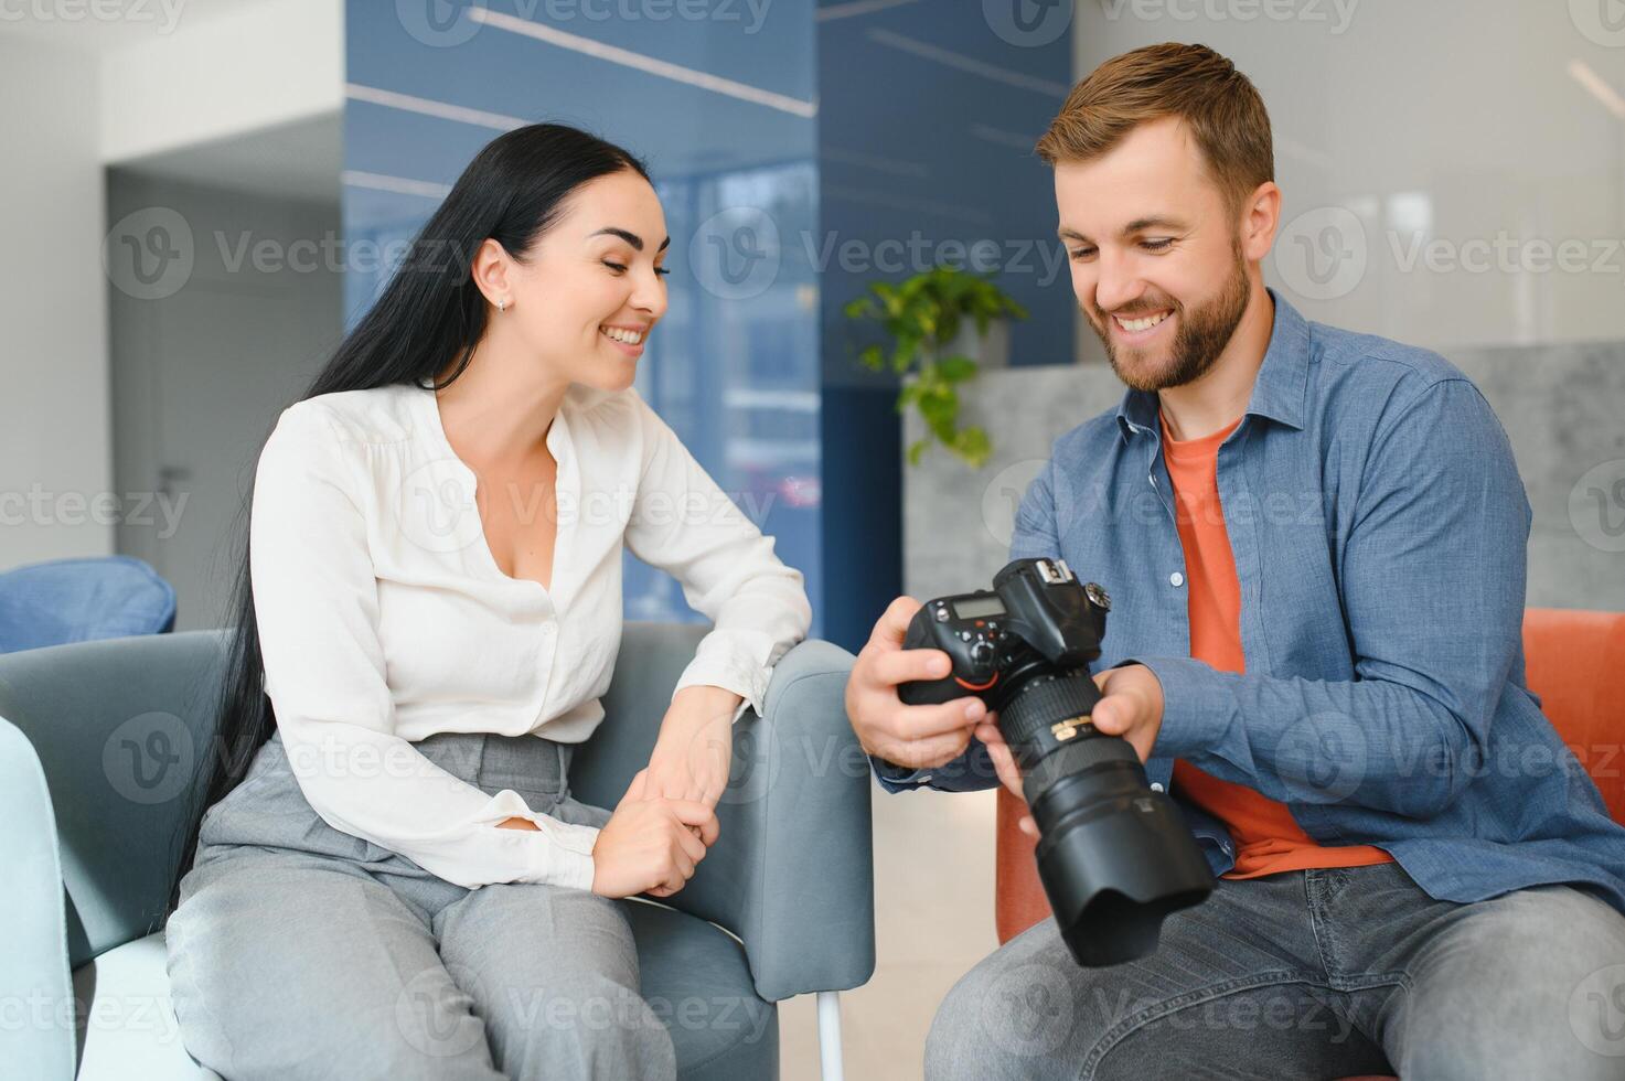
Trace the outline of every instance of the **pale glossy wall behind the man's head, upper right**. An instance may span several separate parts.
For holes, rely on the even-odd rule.
[[[1266,280],[1310,319],[1446,354],[1617,341],[1625,31],[1601,21],[1604,3],[1077,0],[1074,50],[1082,76],[1144,44],[1202,42],[1253,80],[1285,197]],[[1305,247],[1321,241],[1337,265]],[[1568,270],[1565,242],[1583,250]],[[1425,245],[1432,267],[1409,258]],[[1087,328],[1079,346],[1098,353]]]

